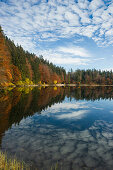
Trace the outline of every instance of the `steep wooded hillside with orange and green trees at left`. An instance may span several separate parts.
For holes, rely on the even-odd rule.
[[[0,84],[7,86],[19,81],[53,84],[54,80],[63,83],[66,71],[16,46],[6,37],[0,27]]]

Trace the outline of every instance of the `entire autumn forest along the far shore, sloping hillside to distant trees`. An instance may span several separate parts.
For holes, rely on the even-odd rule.
[[[25,51],[21,45],[4,35],[0,26],[0,85],[11,84],[85,84],[112,85],[113,72],[96,69],[80,70],[66,73],[63,67]]]

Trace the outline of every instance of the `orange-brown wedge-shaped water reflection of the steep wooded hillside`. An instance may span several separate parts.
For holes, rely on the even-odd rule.
[[[15,88],[0,93],[0,134],[4,134],[12,124],[19,123],[34,113],[41,113],[51,105],[64,100],[64,91],[58,88]],[[29,93],[27,93],[27,92]],[[1,139],[0,139],[1,143]]]

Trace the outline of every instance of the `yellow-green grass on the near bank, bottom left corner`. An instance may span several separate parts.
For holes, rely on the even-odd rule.
[[[0,151],[0,170],[30,170],[30,168],[24,162],[8,158],[6,153]]]

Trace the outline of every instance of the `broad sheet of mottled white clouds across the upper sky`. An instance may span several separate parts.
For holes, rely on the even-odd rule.
[[[7,36],[24,48],[28,41],[33,44],[32,51],[36,50],[36,37],[41,42],[57,41],[78,34],[99,46],[113,44],[113,3],[107,6],[102,0],[8,0],[0,2],[0,23]],[[23,36],[32,39],[23,41]]]

